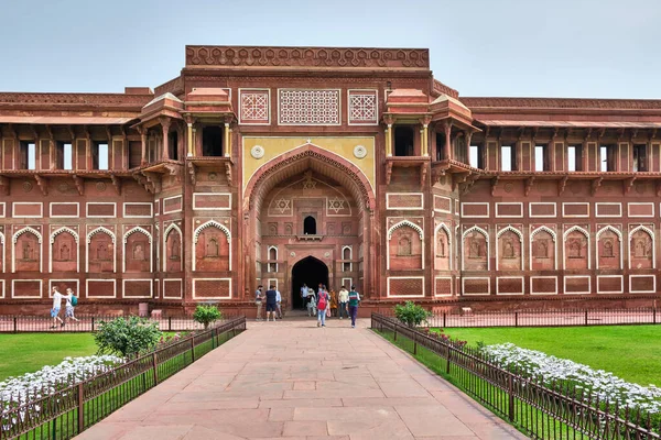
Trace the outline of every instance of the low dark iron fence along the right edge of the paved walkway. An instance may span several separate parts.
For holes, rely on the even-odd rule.
[[[505,370],[477,349],[443,341],[372,314],[371,328],[393,340],[485,407],[535,439],[661,439],[661,421],[639,408],[599,402],[572,386]]]

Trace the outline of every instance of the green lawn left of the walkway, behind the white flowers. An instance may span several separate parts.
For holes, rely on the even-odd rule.
[[[0,334],[0,381],[96,353],[91,333]]]

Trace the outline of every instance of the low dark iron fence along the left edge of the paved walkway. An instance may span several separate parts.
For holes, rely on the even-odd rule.
[[[0,440],[71,439],[246,330],[246,317],[195,332],[78,384],[0,400]]]

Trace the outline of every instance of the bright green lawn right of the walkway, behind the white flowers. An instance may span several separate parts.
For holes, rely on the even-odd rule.
[[[469,345],[511,342],[640,385],[661,386],[661,326],[445,329],[445,333]]]

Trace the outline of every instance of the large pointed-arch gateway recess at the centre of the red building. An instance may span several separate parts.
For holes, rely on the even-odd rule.
[[[250,280],[275,285],[296,308],[303,283],[370,290],[373,196],[359,169],[306,143],[258,168],[243,201],[249,292]]]

